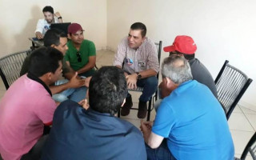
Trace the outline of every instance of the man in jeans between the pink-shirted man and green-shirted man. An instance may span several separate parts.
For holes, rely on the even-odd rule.
[[[46,32],[44,38],[44,45],[51,46],[60,50],[63,55],[66,54],[68,49],[66,46],[67,38],[66,34],[57,29],[51,29]],[[26,74],[30,64],[30,55],[26,57],[21,70],[21,75]],[[53,98],[57,102],[63,102],[70,98],[74,102],[80,102],[86,97],[86,79],[78,77],[66,64],[65,59],[62,60],[62,74],[66,79],[61,79],[50,86],[50,90],[53,94]]]

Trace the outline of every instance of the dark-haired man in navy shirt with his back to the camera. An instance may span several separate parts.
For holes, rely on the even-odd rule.
[[[90,80],[89,109],[69,100],[58,106],[42,160],[145,160],[142,133],[116,117],[126,94],[121,69],[103,66],[97,70]]]

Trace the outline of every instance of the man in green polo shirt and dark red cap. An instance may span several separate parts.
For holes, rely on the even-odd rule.
[[[68,27],[67,43],[69,50],[66,51],[66,62],[78,75],[90,77],[94,74],[96,64],[96,50],[94,42],[84,39],[84,30],[78,23],[72,23]]]

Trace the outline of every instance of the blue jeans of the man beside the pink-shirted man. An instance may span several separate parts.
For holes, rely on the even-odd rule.
[[[55,82],[55,86],[62,85],[69,82],[67,79],[58,80]],[[63,102],[67,99],[70,99],[74,102],[80,102],[82,99],[86,98],[86,86],[82,86],[79,88],[70,88],[67,90],[62,91],[59,94],[54,94],[53,99],[57,102]]]

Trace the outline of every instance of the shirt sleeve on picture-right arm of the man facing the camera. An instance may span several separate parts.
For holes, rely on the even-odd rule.
[[[149,42],[148,46],[149,47],[149,57],[148,57],[148,66],[150,69],[156,71],[158,73],[159,71],[159,62],[158,62],[158,52],[157,48],[154,44],[154,42]]]

